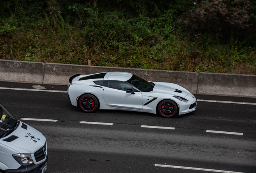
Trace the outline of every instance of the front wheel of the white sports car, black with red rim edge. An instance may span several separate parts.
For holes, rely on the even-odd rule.
[[[171,100],[163,100],[157,107],[158,113],[165,118],[175,117],[178,112],[177,105]]]

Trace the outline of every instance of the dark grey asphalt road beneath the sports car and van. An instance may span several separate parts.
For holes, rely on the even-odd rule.
[[[0,87],[15,89],[34,89],[33,85],[38,84],[0,82]],[[67,89],[59,85],[40,86],[46,90]],[[256,103],[256,98],[195,96],[200,100]],[[19,120],[58,120],[21,120],[47,138],[47,173],[256,173],[254,104],[198,101],[196,111],[166,119],[128,111],[86,114],[70,104],[67,93],[60,92],[0,88],[0,103]]]

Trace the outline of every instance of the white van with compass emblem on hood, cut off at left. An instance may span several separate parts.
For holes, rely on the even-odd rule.
[[[47,157],[42,133],[15,119],[0,103],[0,173],[43,173]]]

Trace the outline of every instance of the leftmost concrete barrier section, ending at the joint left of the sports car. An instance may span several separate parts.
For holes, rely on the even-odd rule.
[[[43,62],[0,59],[0,81],[43,83]]]

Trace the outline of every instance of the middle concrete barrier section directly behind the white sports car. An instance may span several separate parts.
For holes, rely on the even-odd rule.
[[[43,83],[68,84],[68,79],[74,74],[93,74],[109,71],[130,72],[148,81],[171,82],[175,84],[180,84],[194,94],[196,94],[197,90],[198,74],[196,72],[148,70],[138,68],[119,68],[57,63],[45,64]]]

